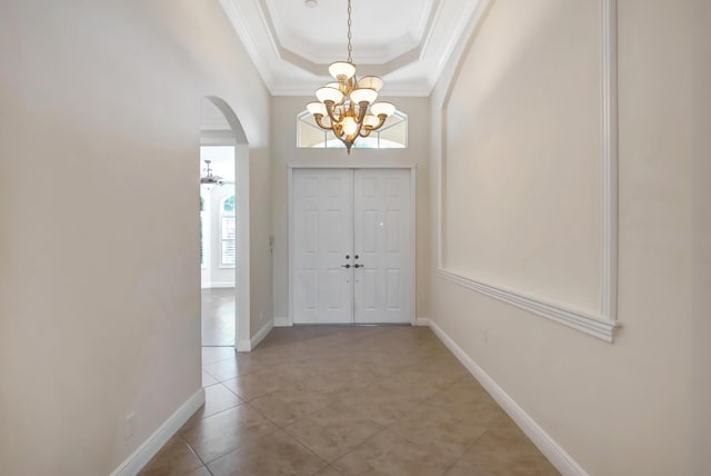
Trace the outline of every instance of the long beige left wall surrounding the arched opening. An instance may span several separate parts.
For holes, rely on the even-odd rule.
[[[0,63],[2,473],[107,475],[201,385],[207,95],[247,133],[269,259],[269,93],[217,1],[3,1]]]

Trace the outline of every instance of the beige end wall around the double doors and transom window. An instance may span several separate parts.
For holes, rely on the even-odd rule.
[[[316,87],[316,86],[314,86]],[[429,316],[429,265],[430,265],[430,219],[429,219],[429,101],[425,98],[387,98],[399,110],[408,115],[409,135],[407,149],[353,149],[348,156],[341,149],[298,149],[296,138],[297,115],[306,110],[312,101],[308,97],[274,97],[272,99],[272,230],[274,234],[273,296],[274,317],[289,316],[289,162],[297,163],[343,163],[368,167],[372,163],[417,163],[417,301],[415,315]]]

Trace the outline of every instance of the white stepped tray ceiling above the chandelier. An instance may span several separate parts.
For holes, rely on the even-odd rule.
[[[220,0],[274,96],[310,96],[348,57],[347,0]],[[479,0],[352,0],[358,76],[385,96],[429,96]]]

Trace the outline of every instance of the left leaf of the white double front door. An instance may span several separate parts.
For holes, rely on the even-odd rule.
[[[293,170],[293,321],[352,321],[351,170]]]

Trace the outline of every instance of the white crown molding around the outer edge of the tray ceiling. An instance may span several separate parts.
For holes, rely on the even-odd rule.
[[[359,71],[382,77],[387,96],[429,96],[482,1],[427,0],[427,12],[414,29],[417,38],[398,41],[398,47],[385,48],[382,56],[361,56]],[[310,96],[320,82],[330,80],[327,71],[333,58],[319,59],[312,51],[286,47],[269,1],[220,3],[271,95]]]

